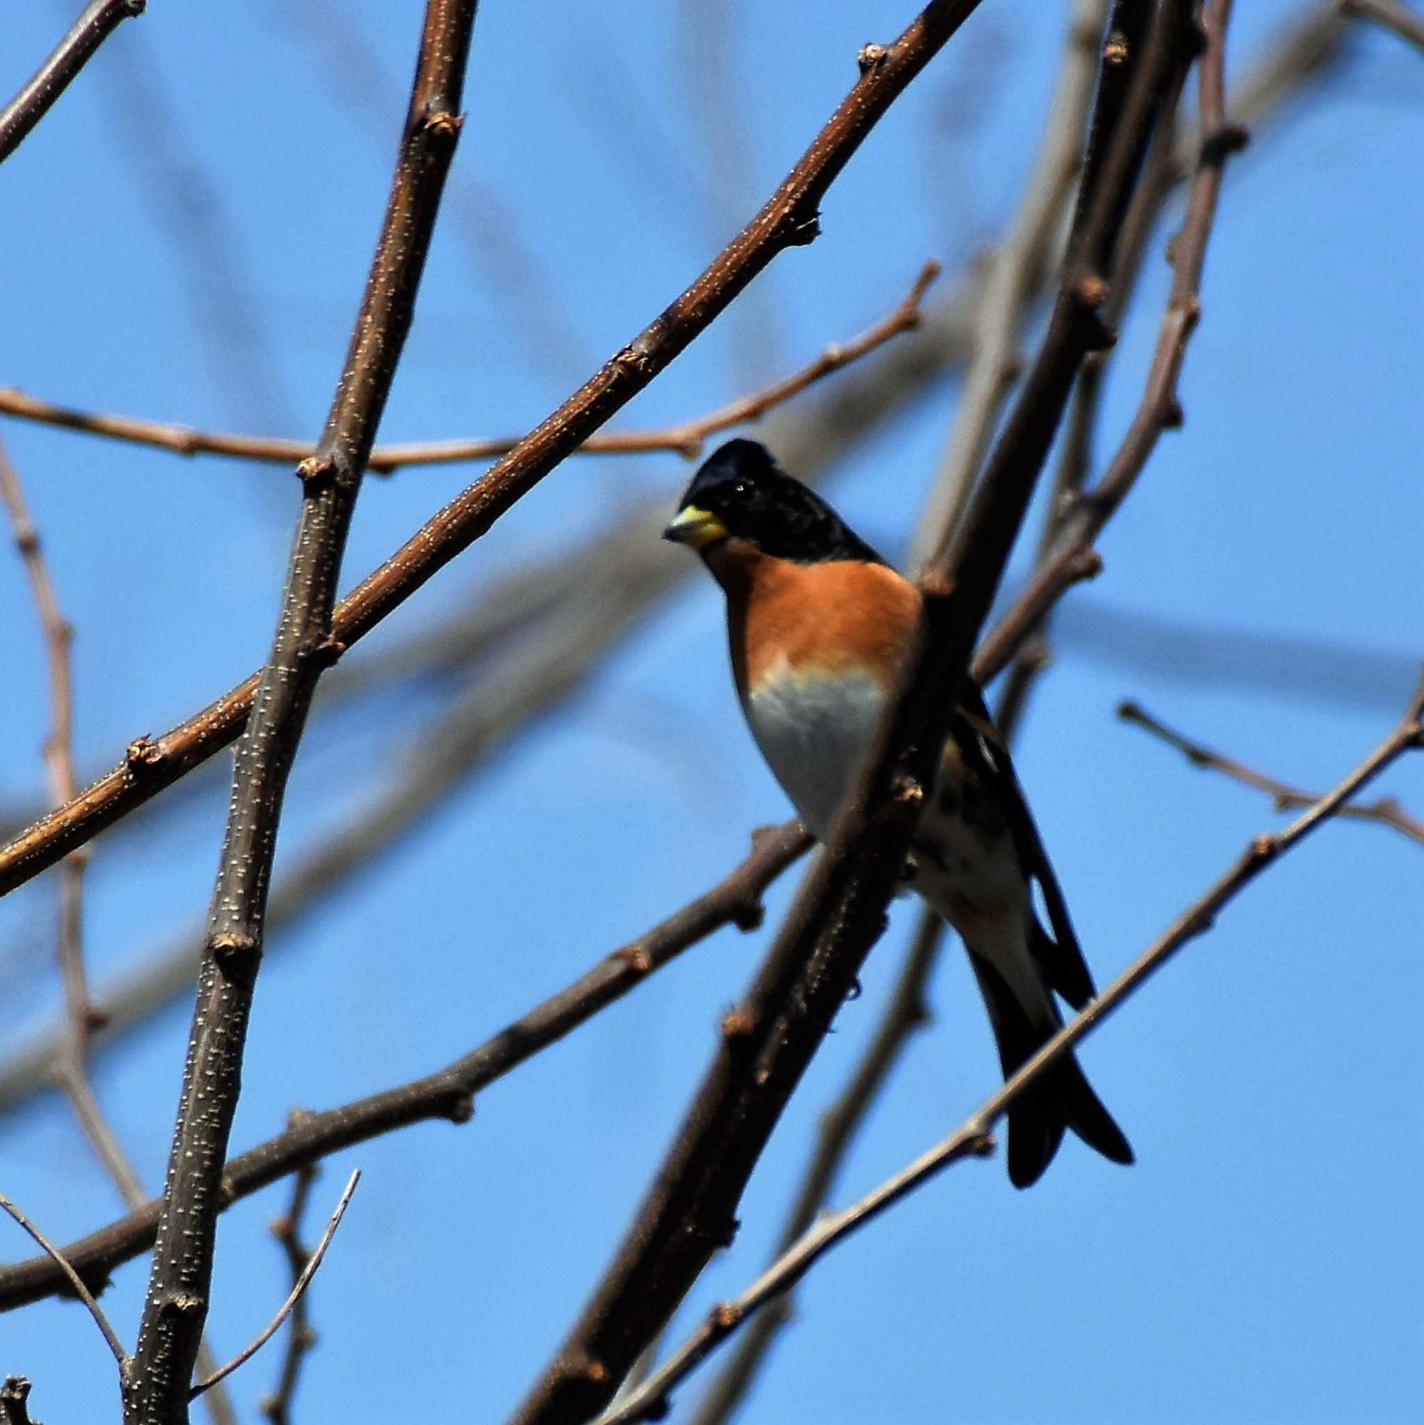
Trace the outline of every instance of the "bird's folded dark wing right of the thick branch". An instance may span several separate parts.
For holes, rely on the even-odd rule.
[[[1068,1000],[1082,1009],[1093,998],[1093,978],[1083,960],[1083,952],[1068,916],[1063,891],[1053,875],[1053,865],[1043,849],[1043,841],[1033,825],[1023,788],[1013,771],[1013,760],[999,730],[984,704],[984,693],[972,678],[965,678],[959,707],[951,721],[949,735],[955,740],[965,767],[976,774],[1009,825],[1013,848],[1023,874],[1039,884],[1052,936],[1033,918],[1035,935],[1031,949],[1043,969],[1043,978]]]

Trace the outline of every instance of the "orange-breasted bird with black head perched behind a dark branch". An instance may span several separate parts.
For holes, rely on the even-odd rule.
[[[703,462],[663,537],[696,550],[721,586],[753,738],[824,844],[894,688],[919,591],[755,440],[728,440]],[[1095,990],[1008,747],[968,675],[904,876],[964,942],[1011,1077],[1062,1027],[1055,996],[1082,1009]],[[1015,1187],[1038,1181],[1068,1129],[1110,1161],[1133,1161],[1072,1054],[1008,1117]]]

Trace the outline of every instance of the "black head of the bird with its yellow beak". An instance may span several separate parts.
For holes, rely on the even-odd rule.
[[[793,480],[755,440],[728,440],[704,462],[663,537],[707,551],[730,539],[763,554],[814,564],[884,560],[815,492]]]

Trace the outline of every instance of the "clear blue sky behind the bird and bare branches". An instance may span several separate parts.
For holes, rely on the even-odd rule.
[[[47,51],[68,9],[9,7],[0,90]],[[0,383],[200,428],[318,430],[389,182],[421,7],[349,3],[334,26],[336,9],[151,4],[115,34],[0,174]],[[844,94],[858,47],[911,13],[835,3],[808,26],[800,6],[733,6],[718,57],[690,9],[482,6],[456,187],[383,439],[533,425],[701,269]],[[954,269],[992,238],[1032,158],[1066,9],[1035,7],[1043,20],[1026,26],[1019,9],[986,0],[832,188],[822,238],[778,258],[745,311],[623,423],[683,419],[810,359],[882,315],[925,258]],[[1303,13],[1274,0],[1237,9],[1233,77]],[[1073,596],[1022,730],[1021,775],[1099,982],[1279,824],[1259,794],[1119,724],[1122,697],[1323,788],[1393,725],[1413,685],[1421,64],[1361,30],[1346,63],[1233,162],[1183,379],[1186,426],[1106,533],[1105,573]],[[717,88],[747,158],[713,180],[696,95]],[[1169,231],[1122,333],[1103,449],[1137,399]],[[533,299],[519,271],[533,274]],[[904,547],[956,395],[937,385],[828,486],[887,553]],[[107,765],[261,661],[296,482],[281,466],[184,462],[13,420],[4,439],[77,627],[80,761]],[[369,482],[345,583],[472,475]],[[671,503],[686,477],[674,456],[566,463],[372,644],[576,546],[636,497]],[[1129,616],[1207,630],[1223,660],[1237,636],[1301,644],[1297,677],[1281,688],[1249,675],[1266,671],[1264,654],[1259,668],[1247,654],[1244,671],[1202,675],[1170,637],[1103,636]],[[1378,680],[1363,685],[1330,650],[1376,656]],[[46,725],[14,559],[0,560],[0,804],[11,805],[41,787]],[[440,700],[416,685],[314,727],[279,868],[399,770]],[[1381,789],[1418,812],[1424,761],[1398,765]],[[201,916],[222,804],[214,789],[97,844],[87,935],[100,985]],[[295,1104],[325,1107],[460,1053],[706,888],[751,826],[785,814],[736,708],[720,596],[690,581],[583,695],[278,938],[234,1146],[271,1136]],[[1420,855],[1390,831],[1341,824],[1274,868],[1083,1053],[1137,1166],[1069,1143],[1023,1194],[1001,1163],[956,1167],[815,1270],[744,1418],[1415,1419]],[[793,884],[774,889],[773,908]],[[54,1012],[53,898],[46,878],[0,906],[6,1043]],[[864,996],[841,1013],[750,1186],[736,1248],[674,1332],[758,1270],[817,1112],[874,1027],[912,922],[902,902]],[[299,1421],[369,1408],[392,1368],[398,1418],[507,1414],[597,1278],[774,923],[707,942],[492,1087],[468,1127],[419,1127],[328,1166],[312,1235],[351,1167],[365,1178],[314,1287],[321,1347]],[[934,1025],[867,1123],[837,1201],[946,1133],[995,1083],[956,949],[931,998]],[[96,1069],[150,1184],[167,1156],[188,1007]],[[0,1120],[0,1191],[61,1241],[117,1206],[54,1099]],[[221,1354],[287,1290],[265,1234],[285,1200],[268,1190],[222,1218]],[[27,1254],[17,1230],[3,1254]],[[145,1270],[123,1268],[104,1298],[127,1340]],[[34,1379],[41,1419],[117,1411],[111,1362],[70,1304],[0,1318],[0,1369]],[[275,1369],[269,1347],[234,1378],[245,1418]]]

